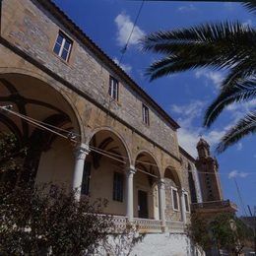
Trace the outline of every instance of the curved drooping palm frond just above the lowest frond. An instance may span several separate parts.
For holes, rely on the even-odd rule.
[[[255,96],[256,78],[249,78],[237,83],[228,90],[224,90],[208,107],[204,117],[204,126],[210,127],[227,105],[246,101]]]

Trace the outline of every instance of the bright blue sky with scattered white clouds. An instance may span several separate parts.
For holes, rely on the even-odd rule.
[[[141,1],[130,0],[54,0],[54,2],[112,59],[120,58]],[[138,38],[149,32],[172,30],[205,22],[239,20],[254,25],[256,17],[237,3],[145,2],[137,26],[130,39],[122,67],[171,117],[181,125],[179,142],[195,156],[195,146],[202,133],[213,147],[228,126],[255,105],[256,100],[243,105],[233,104],[209,130],[202,128],[203,114],[217,96],[224,73],[199,69],[178,73],[149,83],[144,73],[149,64],[160,56],[142,52]],[[235,177],[243,203],[256,205],[256,136],[249,136],[222,155],[220,176],[224,197],[235,202],[243,214],[235,188]]]

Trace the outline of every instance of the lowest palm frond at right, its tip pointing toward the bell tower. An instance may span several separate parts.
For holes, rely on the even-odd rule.
[[[256,132],[256,111],[248,113],[240,119],[237,124],[231,127],[224,135],[221,143],[217,147],[217,152],[222,153],[231,145],[242,139],[248,134]]]

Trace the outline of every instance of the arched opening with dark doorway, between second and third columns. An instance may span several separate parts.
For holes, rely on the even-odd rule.
[[[159,189],[160,169],[148,152],[140,153],[135,160],[134,217],[160,220]]]

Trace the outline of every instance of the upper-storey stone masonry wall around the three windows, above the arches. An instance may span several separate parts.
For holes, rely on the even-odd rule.
[[[60,29],[74,41],[68,63],[52,51]],[[61,28],[60,23],[42,10],[36,1],[4,0],[1,35],[178,157],[177,137],[170,124],[149,105],[150,126],[146,126],[142,122],[142,97],[112,74],[85,45]],[[118,102],[110,102],[108,96],[109,74],[120,81]]]

